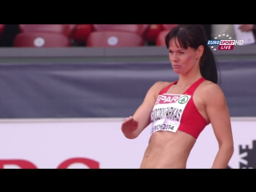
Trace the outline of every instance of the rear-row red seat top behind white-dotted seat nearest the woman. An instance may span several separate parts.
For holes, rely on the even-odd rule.
[[[146,35],[146,32],[150,30],[150,25],[139,24],[139,25],[128,25],[128,24],[116,24],[116,25],[93,25],[93,30],[95,31],[123,31],[139,34],[142,37]]]

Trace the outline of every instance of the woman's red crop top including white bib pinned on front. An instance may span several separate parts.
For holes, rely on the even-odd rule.
[[[181,130],[197,139],[208,123],[194,105],[193,94],[194,90],[205,80],[205,78],[199,78],[183,94],[166,94],[170,86],[173,86],[178,81],[166,86],[158,94],[157,101],[150,115],[152,124],[151,134],[158,130],[174,133],[177,130]]]

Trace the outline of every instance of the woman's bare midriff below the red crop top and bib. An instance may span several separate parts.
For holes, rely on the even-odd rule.
[[[157,131],[150,137],[149,146],[142,159],[141,169],[185,169],[196,139],[177,130]]]

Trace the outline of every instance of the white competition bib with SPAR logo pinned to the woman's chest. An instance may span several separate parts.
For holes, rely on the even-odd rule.
[[[187,94],[161,94],[154,104],[151,112],[151,134],[158,130],[176,132],[182,118],[186,104],[191,95]]]

